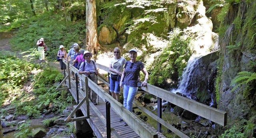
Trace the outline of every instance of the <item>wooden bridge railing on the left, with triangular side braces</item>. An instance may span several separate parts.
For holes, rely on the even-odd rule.
[[[68,62],[64,62],[64,63],[66,64],[67,69],[70,68],[75,74],[78,74],[78,69],[76,69],[74,66],[70,66],[70,64]],[[98,68],[97,64],[96,64],[96,66]],[[65,79],[62,81],[62,83],[60,85],[62,85],[66,79],[68,79],[69,85],[70,85],[70,70],[67,70],[67,71],[68,71],[68,76],[65,77]],[[122,119],[124,119],[124,121],[126,121],[127,124],[134,130],[134,132],[136,132],[140,137],[142,137],[142,138],[157,138],[158,137],[158,135],[156,134],[156,132],[154,132],[154,130],[148,128],[148,126],[146,126],[145,123],[143,123],[140,119],[138,119],[138,117],[136,117],[136,115],[134,115],[133,113],[128,111],[126,108],[124,108],[121,103],[116,101],[111,95],[106,93],[106,91],[104,91],[101,87],[99,87],[97,84],[95,84],[92,80],[88,79],[87,76],[85,76],[84,74],[78,74],[78,76],[84,82],[84,84],[85,84],[84,87],[85,87],[86,92],[84,93],[83,91],[80,91],[80,93],[83,95],[84,98],[82,101],[80,101],[80,103],[77,105],[76,109],[74,109],[74,111],[69,115],[69,117],[66,120],[71,119],[72,115],[74,115],[74,113],[82,105],[82,103],[84,103],[84,101],[86,101],[87,117],[81,117],[78,119],[71,119],[71,120],[78,121],[78,120],[82,120],[82,119],[87,119],[90,124],[90,111],[89,111],[89,107],[88,107],[90,105],[92,107],[92,109],[94,110],[94,112],[98,115],[100,120],[106,125],[105,117],[100,113],[100,111],[98,111],[98,109],[95,107],[95,105],[93,105],[93,103],[88,99],[88,87],[90,87],[90,89],[92,89],[94,92],[96,92],[99,97],[101,97],[105,101],[110,102],[112,110],[114,110],[119,116],[121,116]],[[107,84],[107,82],[104,81],[103,79],[99,78],[99,80],[101,80],[102,82],[105,82]],[[63,88],[60,88],[60,85],[56,88],[57,90],[63,89]],[[107,85],[109,86],[109,84],[107,84]],[[66,89],[70,89],[70,88],[71,87],[68,87]],[[89,103],[89,104],[87,104],[87,103]],[[111,133],[116,138],[120,137],[116,133],[114,128],[111,128]],[[96,134],[96,136],[97,136],[97,134]],[[100,138],[101,137],[100,134],[98,134],[97,137]]]

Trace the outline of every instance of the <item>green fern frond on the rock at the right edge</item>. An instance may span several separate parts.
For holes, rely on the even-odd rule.
[[[256,80],[256,72],[239,72],[238,76],[236,76],[230,83],[230,86],[235,85],[231,92],[252,80]]]

